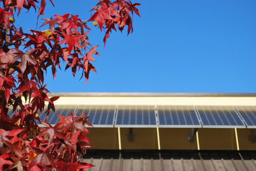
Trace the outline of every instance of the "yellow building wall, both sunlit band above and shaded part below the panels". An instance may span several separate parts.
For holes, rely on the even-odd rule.
[[[256,96],[61,96],[61,105],[253,105]],[[237,129],[240,150],[256,150],[248,140],[251,129]],[[120,128],[122,149],[158,149],[157,128],[133,128],[135,139],[126,139],[129,128]],[[161,149],[237,150],[232,128],[199,128],[199,140],[187,140],[190,128],[159,128]],[[94,149],[119,149],[118,128],[90,128]]]

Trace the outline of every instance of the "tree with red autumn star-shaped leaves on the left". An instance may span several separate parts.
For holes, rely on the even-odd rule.
[[[91,124],[85,113],[59,116],[54,127],[47,123],[59,97],[49,97],[45,73],[50,68],[55,78],[60,63],[65,62],[65,69],[71,67],[74,76],[80,71],[87,82],[90,71],[96,71],[90,61],[99,55],[98,46],[89,43],[87,23],[105,31],[105,46],[111,31],[125,27],[128,34],[133,31],[131,15],[139,15],[138,5],[125,0],[99,1],[86,21],[78,15],[54,15],[43,18],[42,26],[49,26],[48,30],[39,31],[39,27],[27,33],[15,26],[15,18],[22,16],[22,10],[39,9],[40,19],[46,1],[1,0],[0,170],[85,170],[92,166],[78,161],[91,147],[85,127]],[[44,121],[38,115],[42,112],[47,115]]]

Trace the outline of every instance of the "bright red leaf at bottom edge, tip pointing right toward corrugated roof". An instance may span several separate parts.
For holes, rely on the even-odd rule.
[[[91,168],[94,165],[87,164],[85,162],[80,162],[79,164],[74,162],[63,162],[63,161],[55,161],[59,170],[73,171],[77,169],[87,169]]]

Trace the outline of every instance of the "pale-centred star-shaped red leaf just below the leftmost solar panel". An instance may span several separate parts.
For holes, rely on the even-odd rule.
[[[61,124],[61,123],[56,124],[54,127],[52,127],[49,123],[47,123],[45,121],[41,121],[41,122],[47,127],[47,129],[40,132],[37,137],[42,137],[42,136],[48,134],[49,135],[49,138],[48,138],[49,145],[51,145],[53,143],[53,139],[55,136],[57,136],[59,139],[66,140],[66,138],[57,130],[59,124]]]

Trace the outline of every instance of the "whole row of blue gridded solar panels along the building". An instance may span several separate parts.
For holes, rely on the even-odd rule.
[[[70,111],[87,113],[94,127],[256,128],[256,106],[55,105],[47,122],[55,125],[58,115],[70,116]],[[46,119],[45,112],[38,114]],[[14,115],[11,108],[8,115]]]

